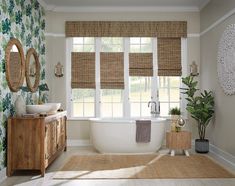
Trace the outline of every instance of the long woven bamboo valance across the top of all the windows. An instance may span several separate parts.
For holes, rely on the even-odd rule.
[[[186,21],[66,21],[66,37],[187,37]]]

